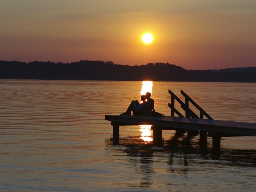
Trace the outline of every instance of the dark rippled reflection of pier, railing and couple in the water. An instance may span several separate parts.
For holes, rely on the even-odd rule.
[[[105,144],[106,156],[114,155],[119,158],[121,152],[126,154],[125,158],[121,157],[128,164],[131,163],[127,167],[131,174],[140,174],[140,187],[153,185],[153,175],[159,172],[186,175],[189,171],[194,171],[195,167],[210,168],[213,164],[230,168],[256,168],[254,151],[223,148],[223,153],[216,155],[210,149],[199,150],[197,141],[194,137],[187,137],[187,134],[175,133],[161,146],[153,142],[141,142],[137,136],[120,137],[119,145],[114,145],[111,139],[105,139]],[[169,180],[169,184],[172,182]]]

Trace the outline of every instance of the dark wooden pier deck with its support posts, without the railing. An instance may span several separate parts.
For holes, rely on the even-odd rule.
[[[207,132],[213,137],[213,150],[220,150],[220,138],[228,136],[256,136],[256,123],[222,121],[187,117],[142,117],[106,115],[113,126],[113,141],[119,141],[119,126],[152,125],[154,141],[162,141],[162,130],[200,131],[200,148],[207,146]]]

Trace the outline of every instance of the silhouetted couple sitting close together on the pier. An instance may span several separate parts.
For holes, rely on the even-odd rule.
[[[151,93],[147,92],[145,95],[141,95],[142,103],[138,100],[132,100],[131,104],[122,116],[130,116],[132,113],[136,116],[153,116],[155,112],[154,99],[151,98]]]

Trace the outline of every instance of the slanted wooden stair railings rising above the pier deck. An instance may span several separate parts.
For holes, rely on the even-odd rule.
[[[176,113],[179,117],[184,117],[176,108],[175,108],[175,99],[178,103],[180,103],[181,108],[185,111],[186,117],[192,117],[192,118],[204,118],[207,117],[208,119],[213,119],[211,116],[209,116],[208,113],[204,111],[196,102],[194,102],[193,99],[189,97],[184,91],[180,90],[181,94],[185,97],[185,103],[182,102],[181,99],[179,99],[171,90],[169,90],[169,94],[171,94],[171,104],[168,103],[168,106],[171,108],[171,116],[174,116]],[[193,104],[199,111],[200,111],[200,117],[197,116],[190,108],[189,108],[189,102]]]

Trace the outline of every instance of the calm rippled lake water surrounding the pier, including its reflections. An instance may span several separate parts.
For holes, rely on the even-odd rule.
[[[224,137],[221,153],[199,137],[121,126],[112,144],[105,114],[149,90],[171,111],[184,90],[214,119],[256,123],[255,83],[0,80],[0,191],[255,191],[255,137]]]

